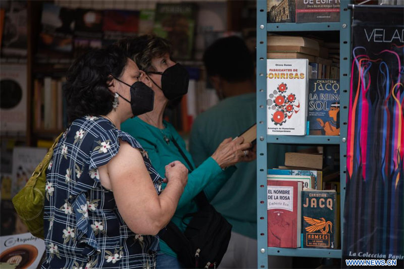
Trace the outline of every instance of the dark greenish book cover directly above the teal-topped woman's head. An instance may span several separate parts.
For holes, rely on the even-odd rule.
[[[196,7],[194,3],[158,3],[156,6],[154,32],[170,40],[174,59],[191,59]]]

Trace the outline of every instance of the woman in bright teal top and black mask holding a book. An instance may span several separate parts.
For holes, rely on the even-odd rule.
[[[166,39],[145,35],[122,39],[118,45],[127,52],[129,58],[136,59],[139,69],[145,72],[155,92],[154,110],[127,120],[122,124],[122,130],[139,141],[160,175],[164,176],[165,166],[173,160],[179,160],[188,170],[192,170],[195,166],[184,140],[170,123],[163,121],[169,100],[178,100],[188,90],[187,71],[171,60],[171,45]],[[172,219],[181,231],[186,228],[182,222],[184,215],[197,210],[193,198],[204,190],[208,200],[212,200],[235,171],[234,164],[255,159],[255,153],[248,150],[250,147],[251,144],[243,143],[241,137],[234,140],[227,138],[211,157],[188,175],[188,183]],[[189,167],[180,150],[192,167]],[[160,240],[157,268],[180,267],[176,253]]]

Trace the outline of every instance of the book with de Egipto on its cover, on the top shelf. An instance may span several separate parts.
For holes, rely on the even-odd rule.
[[[340,0],[296,0],[296,22],[339,22]]]

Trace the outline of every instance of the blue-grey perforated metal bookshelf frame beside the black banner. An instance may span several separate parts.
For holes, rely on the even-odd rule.
[[[349,101],[350,65],[350,1],[340,3],[340,22],[329,23],[267,23],[267,1],[257,1],[257,252],[258,267],[268,268],[268,255],[341,258],[343,211],[345,200],[346,134]],[[267,34],[268,32],[334,31],[340,37],[340,136],[267,135]],[[268,247],[267,227],[267,164],[271,158],[267,144],[339,145],[340,154],[340,249],[275,248]]]

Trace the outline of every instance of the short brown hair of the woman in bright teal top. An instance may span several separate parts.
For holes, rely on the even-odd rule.
[[[125,37],[116,43],[132,59],[140,70],[144,72],[157,71],[151,66],[153,58],[162,57],[168,53],[171,57],[172,46],[170,41],[156,35],[141,35]]]

